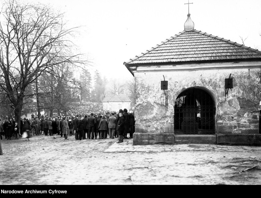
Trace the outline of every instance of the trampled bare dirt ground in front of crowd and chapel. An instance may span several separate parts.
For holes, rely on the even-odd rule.
[[[261,147],[2,140],[2,184],[261,184]]]

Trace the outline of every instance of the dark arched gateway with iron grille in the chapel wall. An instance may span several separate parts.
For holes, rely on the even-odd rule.
[[[206,91],[188,88],[178,95],[174,106],[175,134],[214,134],[215,102]]]

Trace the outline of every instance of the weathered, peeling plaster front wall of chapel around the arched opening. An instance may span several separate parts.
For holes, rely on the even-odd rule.
[[[225,78],[233,89],[225,97]],[[168,80],[166,95],[161,80]],[[190,87],[204,87],[216,103],[216,133],[259,133],[260,68],[135,72],[135,131],[173,133],[174,104]]]

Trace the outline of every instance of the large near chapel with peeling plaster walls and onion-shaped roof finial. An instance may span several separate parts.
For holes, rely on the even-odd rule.
[[[261,52],[194,29],[124,62],[135,79],[133,144],[261,145]]]

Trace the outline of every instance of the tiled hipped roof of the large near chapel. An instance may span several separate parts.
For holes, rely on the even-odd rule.
[[[192,31],[184,30],[123,64],[235,59],[261,59],[261,52],[193,29]]]

